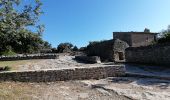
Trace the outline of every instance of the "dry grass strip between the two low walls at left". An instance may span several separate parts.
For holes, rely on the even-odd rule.
[[[0,67],[9,66],[11,70],[18,70],[19,65],[25,65],[28,63],[37,63],[41,60],[18,60],[18,61],[0,61]]]

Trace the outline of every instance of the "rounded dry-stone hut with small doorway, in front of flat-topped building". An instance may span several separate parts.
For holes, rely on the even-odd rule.
[[[87,48],[89,56],[100,56],[102,61],[122,62],[125,60],[125,49],[129,45],[119,39],[95,43]]]

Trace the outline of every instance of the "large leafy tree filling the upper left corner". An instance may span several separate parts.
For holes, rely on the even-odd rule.
[[[41,38],[44,25],[39,23],[42,14],[40,0],[22,6],[22,0],[0,0],[0,52],[7,46],[18,53],[38,51],[43,44]],[[32,32],[28,28],[36,30]]]

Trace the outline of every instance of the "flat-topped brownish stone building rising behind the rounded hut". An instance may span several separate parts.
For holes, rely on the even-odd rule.
[[[157,39],[158,33],[144,32],[113,32],[114,39],[125,41],[131,47],[147,46]]]

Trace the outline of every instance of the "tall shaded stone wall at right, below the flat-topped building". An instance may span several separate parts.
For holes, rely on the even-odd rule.
[[[126,49],[126,62],[170,65],[170,45],[131,47]]]

